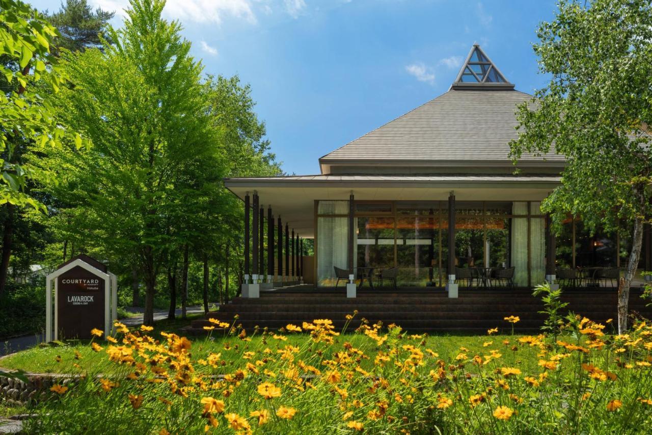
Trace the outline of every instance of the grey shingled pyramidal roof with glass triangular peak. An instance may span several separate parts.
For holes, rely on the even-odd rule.
[[[474,45],[451,89],[319,159],[325,165],[511,164],[509,142],[518,137],[516,106],[531,95],[514,90]],[[563,157],[547,155],[548,161]],[[542,157],[524,155],[525,161]]]

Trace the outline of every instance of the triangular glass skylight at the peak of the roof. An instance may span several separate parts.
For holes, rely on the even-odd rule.
[[[505,79],[505,76],[482,51],[482,48],[478,44],[473,44],[452,88],[514,89],[514,85]]]

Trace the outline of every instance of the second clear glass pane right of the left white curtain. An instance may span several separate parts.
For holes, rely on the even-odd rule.
[[[399,285],[437,285],[439,280],[439,215],[400,216],[396,219],[396,263]]]

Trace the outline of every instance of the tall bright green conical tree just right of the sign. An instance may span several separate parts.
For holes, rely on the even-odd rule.
[[[145,323],[153,322],[156,279],[170,231],[192,204],[177,188],[200,184],[197,170],[220,168],[218,132],[209,121],[201,65],[178,22],[161,18],[160,0],[131,0],[125,25],[110,29],[115,46],[65,56],[74,86],[57,99],[62,121],[92,138],[90,152],[53,153],[61,184],[55,196],[74,204],[78,227],[106,255],[136,255],[145,282]]]

